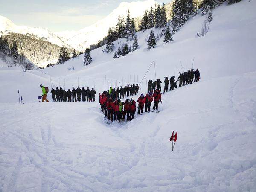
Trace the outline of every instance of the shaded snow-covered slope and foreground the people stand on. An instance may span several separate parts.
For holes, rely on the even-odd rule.
[[[256,191],[255,8],[244,0],[215,9],[210,31],[197,38],[199,15],[175,41],[164,45],[160,38],[150,51],[149,31],[139,32],[138,50],[113,60],[99,48],[87,67],[83,55],[39,71],[0,67],[0,191]],[[128,123],[107,125],[97,97],[37,102],[39,84],[51,88],[50,77],[66,89],[79,78],[80,87],[95,87],[98,95],[105,75],[113,87],[116,80],[140,82],[154,60],[157,79],[174,69],[177,79],[179,61],[188,69],[194,57],[202,79],[165,93],[160,113]],[[154,79],[153,68],[146,78]],[[172,131],[178,131],[174,151]]]

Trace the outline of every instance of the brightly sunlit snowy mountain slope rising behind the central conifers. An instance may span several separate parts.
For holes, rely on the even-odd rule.
[[[131,3],[122,2],[104,19],[79,30],[76,35],[67,40],[67,44],[70,44],[77,50],[84,51],[90,45],[96,44],[98,40],[104,38],[108,33],[108,28],[116,26],[119,15],[126,17],[128,9],[131,17],[140,17],[143,16],[146,9],[149,10],[155,4],[157,4],[155,0],[134,1]]]

